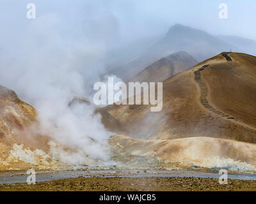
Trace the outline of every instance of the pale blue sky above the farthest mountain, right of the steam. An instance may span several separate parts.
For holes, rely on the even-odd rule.
[[[132,0],[109,1],[108,9],[120,20],[122,32],[143,36],[164,33],[175,23],[212,34],[232,34],[256,40],[256,1],[253,0]],[[220,3],[228,5],[228,18],[220,19]],[[129,32],[130,31],[130,32]],[[132,32],[133,33],[133,32]]]

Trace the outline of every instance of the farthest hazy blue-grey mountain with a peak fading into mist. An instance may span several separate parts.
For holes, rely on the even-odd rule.
[[[109,71],[127,82],[147,68],[150,64],[174,52],[185,51],[197,61],[203,61],[223,50],[237,50],[236,47],[221,41],[205,31],[176,24],[157,43],[130,61],[120,64]]]

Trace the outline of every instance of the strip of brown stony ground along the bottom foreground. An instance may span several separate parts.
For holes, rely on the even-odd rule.
[[[77,178],[28,184],[1,184],[0,191],[256,191],[255,180],[210,178]]]

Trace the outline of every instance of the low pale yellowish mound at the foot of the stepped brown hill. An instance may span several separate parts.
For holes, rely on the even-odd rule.
[[[198,170],[254,172],[256,145],[220,138],[140,140],[116,135],[111,138],[113,156],[126,164],[179,166]]]

